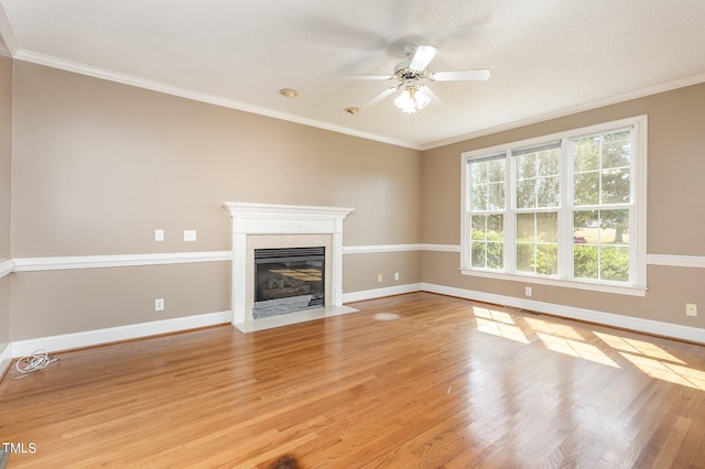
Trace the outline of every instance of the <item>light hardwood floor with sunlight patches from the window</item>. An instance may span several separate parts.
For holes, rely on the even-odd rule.
[[[703,468],[705,348],[441,295],[57,353],[8,468]],[[394,316],[395,315],[395,316]]]

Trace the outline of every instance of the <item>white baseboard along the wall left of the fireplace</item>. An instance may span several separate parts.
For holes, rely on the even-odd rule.
[[[63,334],[59,336],[40,337],[36,339],[18,340],[12,342],[12,357],[25,357],[35,350],[48,352],[69,350],[82,347],[97,346],[120,340],[138,339],[160,334],[177,332],[198,327],[228,324],[232,319],[229,310],[208,313],[174,319],[153,320],[150,323],[129,324],[127,326],[108,327],[105,329],[86,330],[83,332]]]

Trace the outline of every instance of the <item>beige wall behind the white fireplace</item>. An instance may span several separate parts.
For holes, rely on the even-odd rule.
[[[420,242],[417,151],[24,62],[13,97],[14,259],[229,250],[226,200],[352,207],[345,246]],[[417,252],[391,259],[404,283],[420,281]],[[377,271],[357,262],[344,292],[379,287]],[[13,340],[230,302],[228,262],[13,275]]]

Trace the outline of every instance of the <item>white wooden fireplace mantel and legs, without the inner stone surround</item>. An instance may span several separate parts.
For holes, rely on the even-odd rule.
[[[247,312],[247,239],[252,234],[330,234],[330,298],[343,305],[343,220],[354,208],[226,201],[232,218],[232,324],[251,318]]]

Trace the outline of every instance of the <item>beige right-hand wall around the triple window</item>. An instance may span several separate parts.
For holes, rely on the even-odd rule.
[[[634,99],[424,152],[422,240],[460,243],[460,153],[648,114],[648,252],[705,255],[705,84]],[[524,297],[525,284],[462,275],[459,253],[424,252],[423,282]],[[685,303],[705,308],[705,269],[649,265],[646,297],[533,285],[532,299],[705,328],[705,314],[685,316]]]

